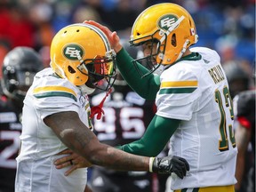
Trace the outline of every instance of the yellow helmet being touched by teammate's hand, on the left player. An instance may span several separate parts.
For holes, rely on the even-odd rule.
[[[116,76],[116,53],[99,28],[76,23],[60,29],[53,37],[51,67],[76,86],[95,88],[103,78],[109,85]]]

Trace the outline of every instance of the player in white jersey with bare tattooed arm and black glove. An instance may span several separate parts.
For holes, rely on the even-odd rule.
[[[101,80],[106,90],[111,87],[115,66],[116,53],[99,28],[77,23],[53,37],[51,68],[36,74],[24,100],[16,192],[84,191],[87,168],[66,177],[68,168],[55,167],[55,159],[67,156],[62,153],[67,148],[83,156],[84,166],[186,175],[189,166],[183,158],[135,156],[101,144],[92,132],[88,94],[100,88]],[[68,160],[72,164],[76,161]]]

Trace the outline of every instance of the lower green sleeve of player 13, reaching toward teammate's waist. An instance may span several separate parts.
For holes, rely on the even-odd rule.
[[[140,140],[119,146],[121,150],[139,156],[157,156],[180,124],[180,120],[154,116]]]

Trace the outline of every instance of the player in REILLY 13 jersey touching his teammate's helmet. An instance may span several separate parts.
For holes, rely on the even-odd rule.
[[[155,4],[141,12],[130,43],[142,45],[145,56],[135,60],[116,32],[92,20],[84,22],[108,36],[117,53],[117,67],[132,89],[146,100],[156,99],[156,115],[145,134],[120,149],[156,156],[170,140],[169,154],[182,156],[191,165],[183,180],[172,174],[172,190],[234,191],[237,148],[228,81],[217,52],[190,48],[198,40],[191,15],[171,3]],[[140,60],[151,69],[140,65]],[[156,69],[159,76],[154,74]]]

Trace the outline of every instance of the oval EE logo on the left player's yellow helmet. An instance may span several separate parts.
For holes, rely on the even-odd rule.
[[[64,47],[63,54],[68,60],[80,60],[84,56],[84,50],[78,44],[68,44]]]

